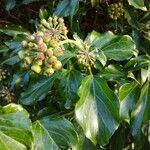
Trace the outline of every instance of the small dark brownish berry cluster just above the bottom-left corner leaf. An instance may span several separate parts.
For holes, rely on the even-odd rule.
[[[4,86],[0,91],[0,97],[7,102],[12,102],[15,99],[15,94],[7,86]]]

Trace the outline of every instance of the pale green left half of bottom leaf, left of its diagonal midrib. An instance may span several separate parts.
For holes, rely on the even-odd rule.
[[[33,150],[58,150],[58,146],[50,136],[49,132],[44,128],[44,126],[36,121],[33,124]]]

